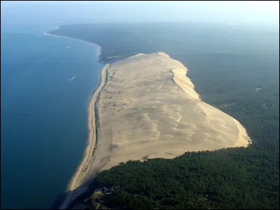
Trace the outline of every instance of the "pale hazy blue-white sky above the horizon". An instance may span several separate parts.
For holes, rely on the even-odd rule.
[[[279,1],[1,1],[8,22],[223,22],[279,25]]]

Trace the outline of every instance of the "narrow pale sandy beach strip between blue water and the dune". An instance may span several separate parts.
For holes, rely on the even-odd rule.
[[[73,175],[69,185],[67,187],[67,191],[73,191],[79,186],[83,184],[85,178],[87,177],[88,173],[90,172],[90,165],[94,162],[94,150],[96,146],[96,132],[95,132],[95,102],[97,101],[97,97],[99,92],[102,90],[102,87],[105,84],[106,79],[106,71],[109,69],[110,64],[106,64],[101,72],[101,78],[99,86],[97,90],[95,90],[94,94],[92,95],[92,99],[90,100],[90,105],[88,106],[88,130],[89,136],[87,139],[87,146],[85,148],[85,153],[83,156],[83,160],[80,162],[80,165],[76,169],[75,174]],[[77,192],[75,192],[77,193]],[[78,193],[79,194],[79,193]],[[71,192],[65,198],[63,204],[61,205],[60,209],[65,209],[66,206],[76,197],[76,195],[72,195]]]

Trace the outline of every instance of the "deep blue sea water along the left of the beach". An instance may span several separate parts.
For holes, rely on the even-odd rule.
[[[1,209],[49,208],[83,157],[104,64],[95,45],[43,35],[53,28],[1,26]]]

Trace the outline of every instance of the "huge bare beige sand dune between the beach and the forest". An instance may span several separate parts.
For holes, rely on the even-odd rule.
[[[237,120],[200,100],[187,71],[164,52],[111,64],[98,103],[99,140],[90,174],[127,160],[248,145]]]

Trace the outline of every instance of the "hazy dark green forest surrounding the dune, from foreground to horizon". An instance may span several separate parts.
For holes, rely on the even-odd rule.
[[[97,174],[90,187],[89,194],[100,186],[120,186],[104,193],[99,204],[125,209],[279,209],[279,31],[178,23],[70,25],[50,33],[99,44],[101,62],[166,52],[189,69],[202,100],[239,120],[253,140],[248,148],[113,167]]]

